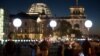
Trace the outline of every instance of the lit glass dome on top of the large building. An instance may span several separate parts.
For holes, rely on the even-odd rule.
[[[44,3],[34,3],[28,10],[27,14],[46,14],[47,16],[52,16],[50,9]]]

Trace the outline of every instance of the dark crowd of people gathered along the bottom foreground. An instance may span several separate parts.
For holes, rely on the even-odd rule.
[[[51,43],[45,39],[42,42],[15,43],[10,37],[9,41],[1,47],[3,47],[3,56],[21,56],[23,46],[31,48],[31,56],[53,56],[52,54],[57,54],[55,56],[100,56],[100,44],[98,47],[93,45],[93,42],[86,38],[82,44],[77,41]],[[57,46],[54,49],[56,52],[50,53],[50,50],[53,50],[51,47],[54,46]]]

